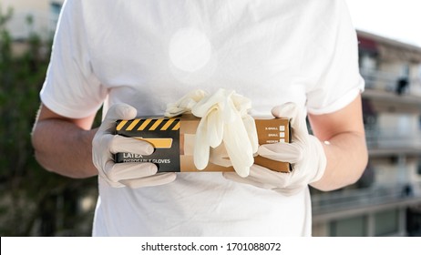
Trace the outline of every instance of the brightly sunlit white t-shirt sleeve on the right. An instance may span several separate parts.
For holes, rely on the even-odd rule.
[[[307,110],[327,114],[350,104],[365,89],[358,66],[356,31],[347,6],[334,2],[334,14],[321,33],[323,44],[322,72],[316,85],[307,91]]]

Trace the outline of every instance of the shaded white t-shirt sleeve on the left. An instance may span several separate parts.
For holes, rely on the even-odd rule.
[[[72,118],[95,114],[107,97],[107,88],[91,66],[82,2],[68,0],[63,5],[40,92],[46,107]]]

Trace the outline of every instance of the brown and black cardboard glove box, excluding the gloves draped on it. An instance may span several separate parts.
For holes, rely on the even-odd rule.
[[[223,166],[223,164],[215,163],[216,161],[212,160],[210,160],[208,167],[203,170],[195,168],[193,145],[199,122],[200,118],[192,115],[172,118],[139,117],[132,120],[118,120],[116,134],[146,140],[155,147],[155,151],[149,156],[117,153],[115,161],[117,163],[152,162],[159,167],[159,172],[233,171],[232,167]],[[260,145],[291,141],[289,119],[255,117],[255,123]],[[223,145],[218,149],[223,151]],[[254,157],[254,163],[280,172],[292,170],[289,163],[261,156]]]

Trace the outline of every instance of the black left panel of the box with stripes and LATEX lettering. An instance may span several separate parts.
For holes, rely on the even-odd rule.
[[[155,148],[152,155],[117,153],[117,163],[150,162],[158,166],[159,172],[180,169],[180,118],[142,117],[118,120],[116,134],[147,141]]]

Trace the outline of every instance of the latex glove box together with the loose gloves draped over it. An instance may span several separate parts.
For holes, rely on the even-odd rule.
[[[152,155],[118,153],[115,161],[155,163],[159,172],[236,171],[253,164],[290,172],[289,163],[257,156],[259,145],[291,141],[290,121],[249,115],[252,102],[229,89],[191,91],[167,105],[165,117],[119,120],[116,134],[148,141]]]

